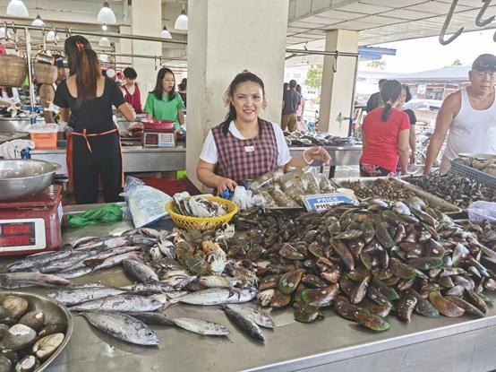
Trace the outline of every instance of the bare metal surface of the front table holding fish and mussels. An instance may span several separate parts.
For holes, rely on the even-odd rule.
[[[100,204],[101,205],[101,204]],[[75,205],[64,212],[82,212],[91,206]],[[158,228],[170,229],[170,222]],[[132,228],[130,221],[94,225],[64,231],[64,241],[81,236],[119,233]],[[3,258],[0,265],[12,258]],[[130,281],[119,268],[74,279],[81,284],[101,281],[124,285]],[[42,289],[26,289],[46,293]],[[496,295],[489,293],[496,300]],[[325,319],[301,324],[292,309],[274,310],[274,331],[264,330],[265,345],[254,342],[231,324],[218,307],[175,305],[169,316],[192,316],[225,324],[226,338],[202,337],[166,326],[152,326],[158,348],[119,342],[74,316],[71,341],[47,372],[87,371],[489,371],[496,368],[496,309],[488,316],[437,319],[414,315],[407,324],[389,316],[391,328],[385,333],[363,329],[328,311]]]

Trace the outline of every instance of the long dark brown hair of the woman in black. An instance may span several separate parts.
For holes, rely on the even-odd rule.
[[[65,54],[70,74],[76,75],[78,100],[85,102],[97,98],[97,82],[101,74],[97,54],[91,49],[90,41],[81,35],[65,39]]]

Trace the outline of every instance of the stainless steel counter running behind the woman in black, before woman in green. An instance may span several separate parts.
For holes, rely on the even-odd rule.
[[[31,159],[47,160],[60,164],[57,175],[67,175],[65,148],[30,151]],[[176,147],[123,147],[124,172],[167,172],[186,169],[186,146]]]

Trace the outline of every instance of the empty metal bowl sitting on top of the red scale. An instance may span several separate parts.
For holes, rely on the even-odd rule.
[[[60,165],[43,160],[0,160],[0,201],[38,194],[52,183]]]

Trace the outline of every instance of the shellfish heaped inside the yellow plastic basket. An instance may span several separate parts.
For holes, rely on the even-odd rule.
[[[187,191],[173,196],[175,212],[191,217],[218,217],[227,213],[224,205]]]

